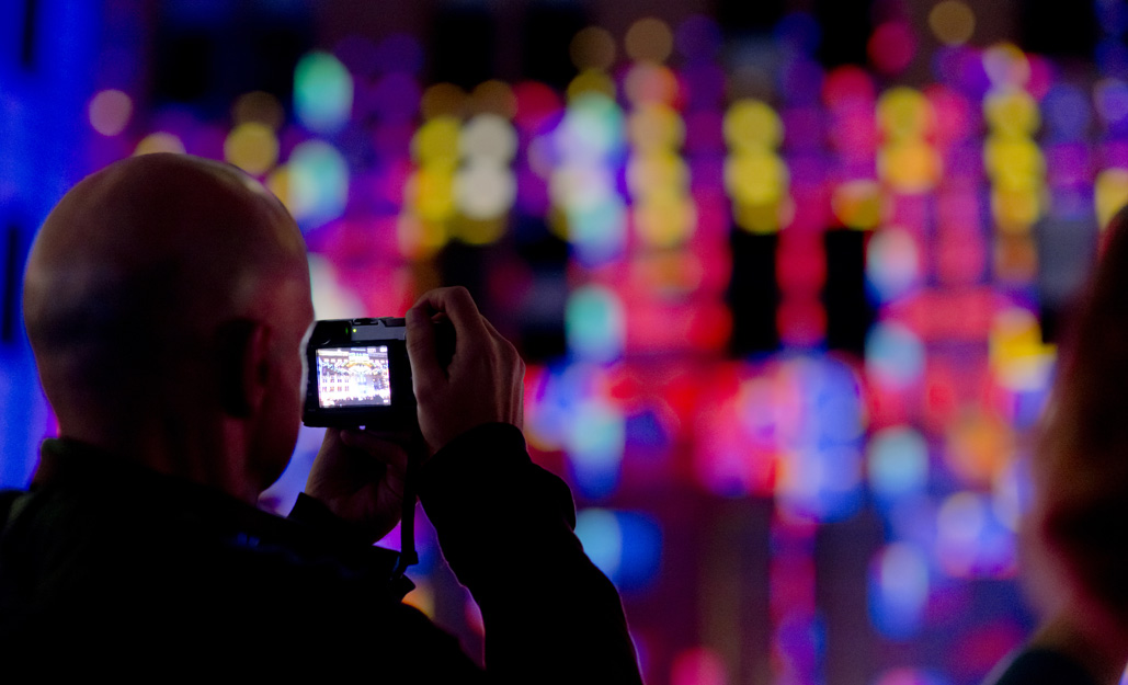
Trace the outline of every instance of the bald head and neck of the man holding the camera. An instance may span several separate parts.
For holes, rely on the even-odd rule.
[[[306,247],[261,184],[185,155],[87,177],[43,225],[24,316],[65,438],[247,501],[300,423]]]

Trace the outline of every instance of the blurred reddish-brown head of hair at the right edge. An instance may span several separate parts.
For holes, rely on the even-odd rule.
[[[1051,601],[1128,636],[1128,208],[1109,225],[1069,327],[1032,462],[1030,539]],[[1036,570],[1037,573],[1037,570]],[[1063,591],[1064,590],[1064,591]]]

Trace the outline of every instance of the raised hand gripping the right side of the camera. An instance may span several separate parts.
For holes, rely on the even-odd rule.
[[[446,368],[437,350],[437,322],[455,328]],[[407,311],[407,355],[420,430],[431,454],[486,423],[522,428],[525,362],[478,313],[465,288],[432,290]]]

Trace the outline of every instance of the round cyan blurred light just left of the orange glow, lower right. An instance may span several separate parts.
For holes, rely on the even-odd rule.
[[[878,431],[867,448],[870,489],[887,502],[924,494],[928,485],[928,446],[916,429]]]

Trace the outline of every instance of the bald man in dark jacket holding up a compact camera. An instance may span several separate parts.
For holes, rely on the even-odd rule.
[[[422,444],[414,427],[326,431],[287,519],[254,504],[293,450],[314,311],[301,234],[256,181],[183,155],[83,179],[35,239],[24,315],[61,436],[0,510],[0,662],[641,682],[571,494],[526,451],[523,365],[464,289],[407,313]],[[455,328],[444,367],[435,318]],[[485,670],[402,601],[411,583],[372,546],[398,521],[409,458],[482,608]]]

